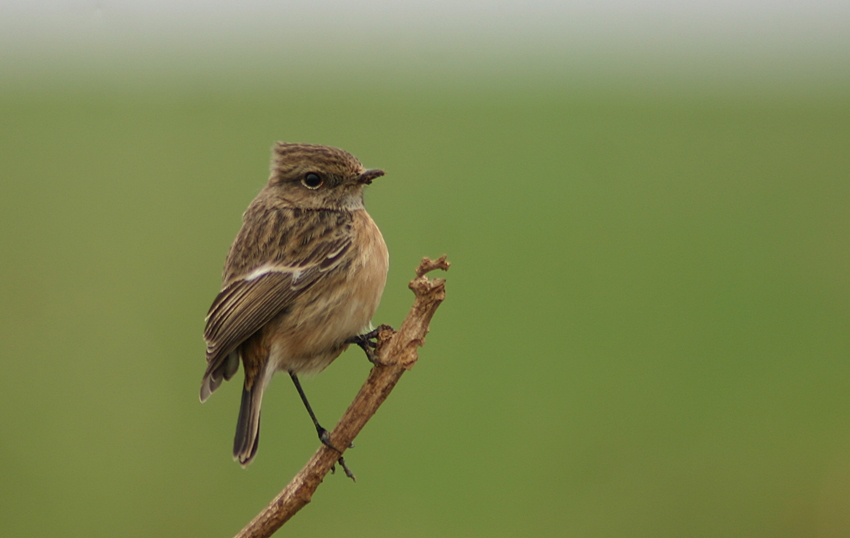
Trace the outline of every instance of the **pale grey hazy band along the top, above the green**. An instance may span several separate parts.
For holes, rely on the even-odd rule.
[[[429,52],[467,62],[608,55],[625,63],[670,58],[685,66],[709,56],[728,65],[814,59],[833,66],[827,72],[843,70],[850,59],[850,2],[0,2],[0,62],[7,66],[133,55],[156,63],[175,53],[201,65],[257,60],[272,49],[316,58],[368,50],[377,61]]]

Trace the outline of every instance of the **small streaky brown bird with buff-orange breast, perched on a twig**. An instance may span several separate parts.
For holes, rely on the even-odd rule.
[[[364,187],[383,171],[327,146],[278,142],[273,153],[271,177],[242,217],[204,330],[202,402],[240,360],[245,368],[233,443],[243,466],[257,453],[263,390],[280,370],[332,446],[297,376],[322,371],[352,343],[371,357],[371,319],[389,267],[363,206]]]

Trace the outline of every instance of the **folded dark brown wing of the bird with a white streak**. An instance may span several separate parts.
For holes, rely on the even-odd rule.
[[[304,218],[290,214],[286,216],[294,220],[288,226],[281,226],[279,213],[259,231],[250,232],[243,227],[231,248],[226,275],[233,267],[250,267],[245,258],[252,255],[251,247],[246,251],[245,245],[259,246],[275,254],[265,256],[267,260],[271,258],[267,263],[228,278],[228,283],[213,301],[204,330],[207,370],[201,385],[202,400],[218,388],[222,380],[230,379],[236,372],[238,358],[231,354],[240,344],[285,312],[297,297],[347,259],[352,239],[347,233],[350,228],[324,222],[338,221],[339,215],[316,212]],[[269,228],[272,228],[271,233]],[[279,240],[285,244],[280,245]],[[273,243],[282,248],[268,249]]]

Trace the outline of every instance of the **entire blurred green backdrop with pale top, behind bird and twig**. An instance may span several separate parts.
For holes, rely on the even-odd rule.
[[[245,5],[3,8],[0,535],[231,536],[315,451],[284,378],[244,470],[197,397],[286,140],[387,171],[377,323],[453,266],[279,534],[850,536],[850,10]]]

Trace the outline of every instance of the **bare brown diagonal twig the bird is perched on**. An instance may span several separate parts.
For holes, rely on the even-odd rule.
[[[351,442],[366,422],[387,399],[401,375],[416,364],[419,358],[417,350],[425,344],[425,335],[428,334],[431,317],[446,298],[446,281],[442,278],[429,280],[426,274],[435,269],[447,271],[449,265],[445,256],[437,260],[422,259],[416,269],[416,278],[411,280],[408,286],[416,295],[410,313],[398,332],[387,325],[381,325],[378,328],[375,366],[369,372],[366,383],[331,432],[333,446],[351,446]],[[344,448],[342,450],[345,451]],[[289,518],[310,502],[313,492],[340,456],[339,452],[322,445],[283,491],[253,521],[248,523],[236,535],[236,538],[268,538],[274,534]]]

